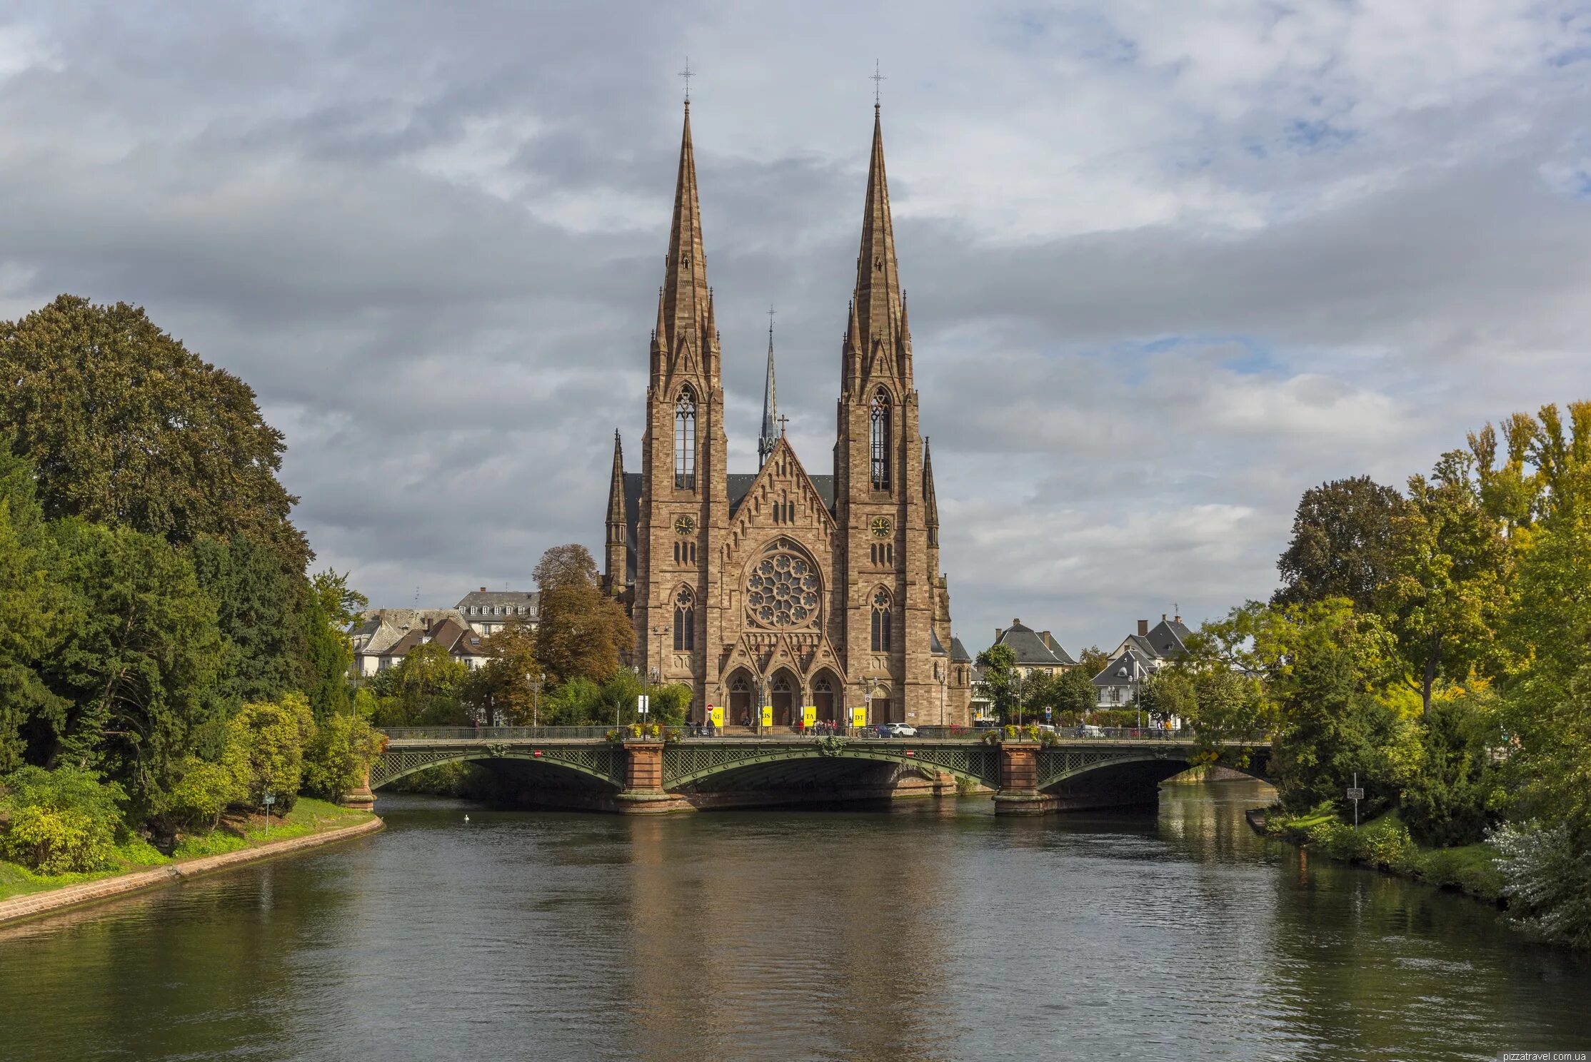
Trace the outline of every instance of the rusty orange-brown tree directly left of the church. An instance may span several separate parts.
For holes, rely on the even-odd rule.
[[[555,545],[536,564],[541,625],[536,660],[558,682],[605,682],[635,649],[624,606],[601,591],[597,561],[584,545]]]

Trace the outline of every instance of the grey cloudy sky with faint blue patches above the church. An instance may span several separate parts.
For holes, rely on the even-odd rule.
[[[829,461],[881,64],[974,650],[1225,612],[1306,486],[1591,397],[1591,8],[1556,0],[13,2],[0,316],[138,302],[248,380],[374,604],[525,587],[600,553],[640,442],[686,56],[746,471],[770,302]]]

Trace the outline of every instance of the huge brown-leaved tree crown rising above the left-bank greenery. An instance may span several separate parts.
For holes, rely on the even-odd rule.
[[[49,517],[175,544],[247,534],[283,566],[310,558],[277,482],[285,448],[242,380],[207,364],[140,307],[60,296],[0,323],[0,429],[38,471]]]

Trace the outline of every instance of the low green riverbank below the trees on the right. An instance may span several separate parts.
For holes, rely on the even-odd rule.
[[[1370,866],[1503,906],[1503,878],[1489,847],[1424,847],[1410,838],[1408,827],[1395,811],[1371,819],[1357,830],[1328,814],[1287,817],[1273,808],[1254,808],[1246,817],[1257,833],[1305,846],[1338,862]]]

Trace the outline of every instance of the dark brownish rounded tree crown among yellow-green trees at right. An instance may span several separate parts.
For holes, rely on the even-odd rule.
[[[1311,486],[1298,499],[1293,536],[1276,561],[1273,604],[1348,598],[1370,607],[1392,577],[1392,520],[1403,499],[1368,475]]]

